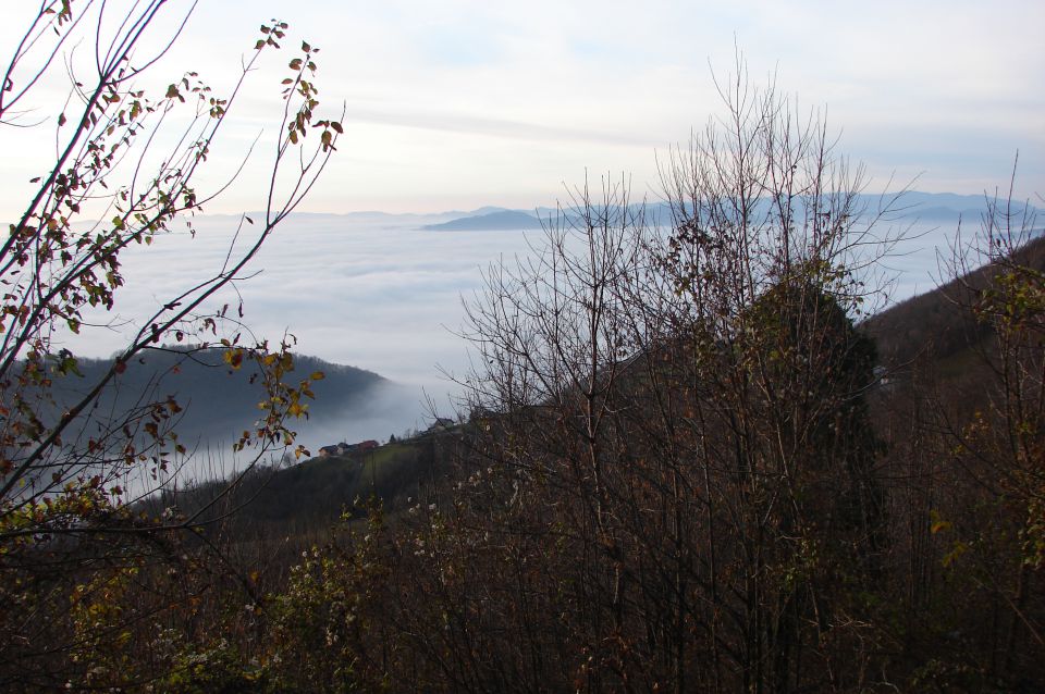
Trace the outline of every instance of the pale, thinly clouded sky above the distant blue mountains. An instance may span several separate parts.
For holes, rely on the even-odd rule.
[[[172,0],[170,16],[186,5]],[[775,71],[782,90],[825,107],[841,151],[880,182],[920,175],[919,189],[979,193],[1007,181],[1019,149],[1021,194],[1045,190],[1038,0],[202,0],[160,82],[193,69],[221,90],[272,16],[291,23],[291,44],[321,48],[321,98],[347,110],[308,210],[531,208],[586,170],[630,172],[655,195],[655,153],[721,112],[709,65],[727,72],[735,45],[755,82]],[[0,32],[4,49],[19,24]],[[254,76],[216,181],[231,168],[223,156],[272,134],[282,61]],[[0,131],[24,154],[8,158],[5,214],[40,173],[34,137],[53,135]],[[262,188],[248,174],[211,211],[257,208]]]

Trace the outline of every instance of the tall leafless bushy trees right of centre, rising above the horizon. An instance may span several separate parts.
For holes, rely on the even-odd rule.
[[[873,580],[883,499],[853,319],[895,198],[869,205],[816,113],[742,62],[721,87],[725,116],[662,165],[664,203],[579,189],[537,259],[493,268],[470,306],[469,405],[502,475],[483,497],[506,497],[472,508],[542,566],[504,596],[543,606],[504,612],[540,635],[511,656],[531,682],[864,683],[838,577]]]

